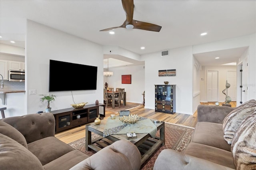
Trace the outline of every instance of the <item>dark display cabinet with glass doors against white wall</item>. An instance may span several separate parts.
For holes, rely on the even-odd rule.
[[[155,85],[155,111],[174,114],[176,85]]]

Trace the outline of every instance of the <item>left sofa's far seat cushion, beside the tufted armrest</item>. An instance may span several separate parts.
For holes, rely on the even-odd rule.
[[[28,150],[40,160],[42,165],[45,165],[74,149],[56,137],[50,136],[29,143]]]

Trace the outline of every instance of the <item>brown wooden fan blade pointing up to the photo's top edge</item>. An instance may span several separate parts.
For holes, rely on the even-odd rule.
[[[134,9],[133,0],[122,0],[122,5],[124,8],[124,12],[126,14],[126,21],[125,21],[126,25],[132,24],[133,9]]]

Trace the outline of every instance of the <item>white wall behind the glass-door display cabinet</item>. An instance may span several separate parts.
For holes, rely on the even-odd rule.
[[[192,46],[169,49],[169,56],[161,52],[142,55],[145,60],[145,108],[155,109],[155,86],[164,81],[176,85],[176,112],[192,115]],[[176,76],[159,77],[158,70],[176,69]]]

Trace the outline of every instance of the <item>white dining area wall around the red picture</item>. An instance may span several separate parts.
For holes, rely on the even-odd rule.
[[[145,69],[143,67],[144,65],[136,65],[108,69],[114,73],[111,77],[104,77],[102,87],[104,88],[107,82],[108,87],[114,87],[114,90],[116,87],[124,88],[127,102],[142,103],[142,93],[145,90]],[[132,84],[122,84],[122,75],[132,75]]]

